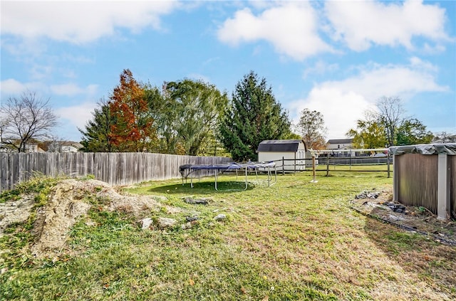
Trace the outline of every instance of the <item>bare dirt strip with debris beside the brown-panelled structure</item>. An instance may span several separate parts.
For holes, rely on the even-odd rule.
[[[441,221],[423,207],[403,206],[393,202],[393,190],[363,191],[362,194],[378,195],[375,199],[353,199],[351,207],[365,215],[380,218],[408,231],[432,236],[435,241],[456,245],[456,222]]]

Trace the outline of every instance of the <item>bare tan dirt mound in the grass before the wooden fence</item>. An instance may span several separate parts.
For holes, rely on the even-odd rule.
[[[160,197],[119,194],[112,186],[97,180],[66,179],[51,189],[46,206],[35,208],[32,195],[19,201],[0,204],[0,236],[11,223],[24,223],[36,210],[33,233],[36,241],[31,253],[36,258],[57,255],[65,248],[69,229],[90,207],[90,199],[100,202],[108,211],[123,211],[140,216],[142,212],[160,210]]]

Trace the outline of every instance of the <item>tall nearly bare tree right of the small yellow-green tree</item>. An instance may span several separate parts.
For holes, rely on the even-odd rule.
[[[380,97],[377,101],[378,121],[385,129],[388,146],[395,145],[396,131],[405,120],[402,101],[399,97]]]

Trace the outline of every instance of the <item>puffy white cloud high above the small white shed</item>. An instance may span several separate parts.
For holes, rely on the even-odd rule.
[[[223,23],[217,35],[220,41],[232,46],[265,40],[278,53],[295,60],[333,51],[318,36],[318,17],[309,2],[281,2],[259,16],[250,9],[242,9]]]

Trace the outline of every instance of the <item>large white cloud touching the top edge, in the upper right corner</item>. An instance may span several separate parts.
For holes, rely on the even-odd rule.
[[[365,51],[372,43],[413,48],[417,36],[449,41],[445,33],[445,9],[422,1],[326,1],[326,15],[334,37],[354,51]]]

